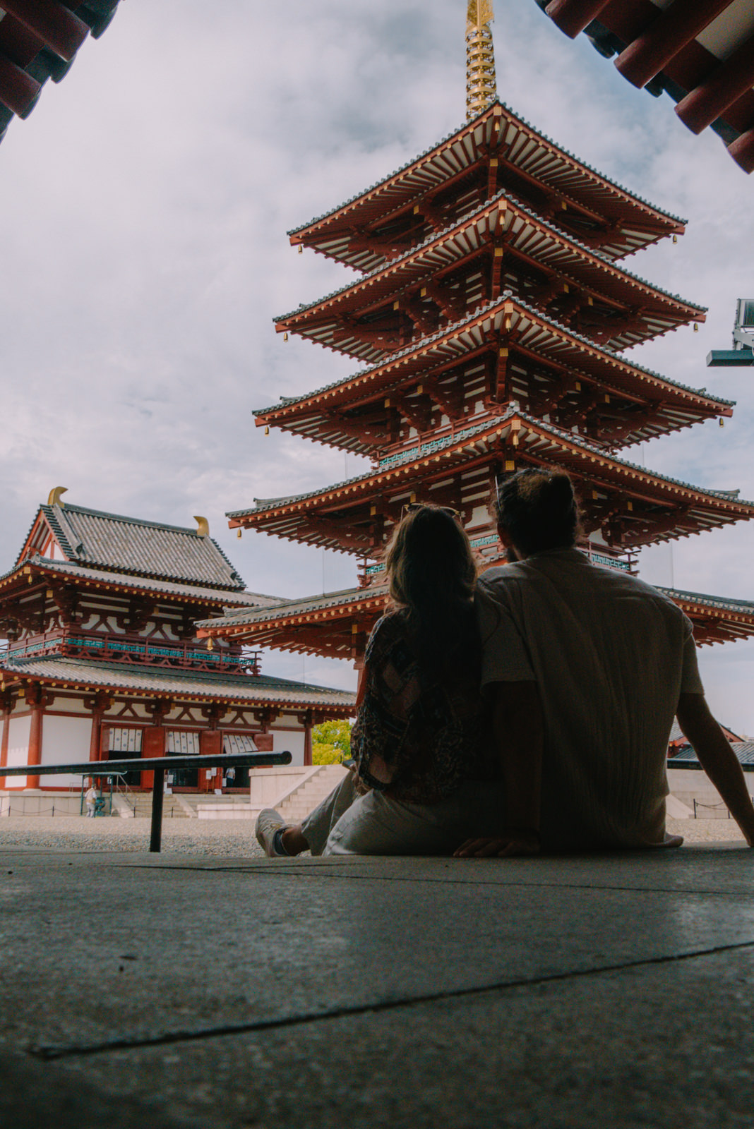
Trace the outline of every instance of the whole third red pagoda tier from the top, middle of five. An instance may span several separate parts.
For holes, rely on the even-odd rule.
[[[257,426],[379,457],[500,415],[510,400],[608,448],[733,413],[730,401],[616,356],[506,292],[370,368],[254,414]]]

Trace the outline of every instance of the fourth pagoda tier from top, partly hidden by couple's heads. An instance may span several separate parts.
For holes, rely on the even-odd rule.
[[[406,502],[437,502],[461,513],[484,558],[496,551],[488,513],[496,479],[525,466],[570,473],[584,532],[597,551],[621,553],[754,517],[754,504],[739,500],[737,491],[702,490],[655,474],[516,404],[497,418],[417,441],[359,478],[304,495],[256,499],[253,509],[227,516],[231,527],[377,560]],[[485,536],[491,537],[489,550]]]

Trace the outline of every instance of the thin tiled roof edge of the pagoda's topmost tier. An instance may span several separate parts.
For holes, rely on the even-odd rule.
[[[299,227],[292,228],[288,233],[288,235],[291,238],[291,242],[303,243],[305,236],[312,235],[315,229],[317,228],[322,229],[327,224],[332,224],[336,218],[342,218],[345,213],[356,211],[359,204],[374,200],[380,192],[385,192],[391,186],[394,186],[398,184],[402,180],[405,180],[410,170],[412,170],[415,166],[422,166],[429,164],[432,157],[437,157],[441,150],[447,149],[448,146],[451,145],[454,141],[458,141],[462,138],[473,133],[475,129],[479,126],[480,122],[484,121],[486,117],[498,116],[500,115],[501,112],[505,116],[507,116],[509,122],[515,123],[519,129],[523,129],[531,135],[537,138],[545,146],[547,150],[553,151],[554,154],[558,155],[558,157],[561,160],[564,160],[566,165],[569,166],[569,168],[571,169],[572,175],[576,175],[577,180],[579,180],[579,183],[582,184],[584,187],[587,187],[587,185],[589,187],[593,187],[595,182],[599,182],[599,187],[602,189],[602,191],[610,192],[613,196],[615,196],[617,200],[621,201],[623,207],[628,204],[633,209],[643,212],[645,215],[650,215],[652,219],[657,220],[663,227],[667,228],[668,234],[674,229],[677,230],[678,227],[685,226],[686,221],[684,219],[681,219],[680,217],[674,216],[670,212],[657,208],[655,204],[651,204],[649,203],[649,201],[643,200],[641,196],[631,192],[629,189],[625,189],[622,185],[619,185],[615,182],[610,181],[602,173],[598,173],[597,169],[591,168],[591,166],[587,165],[585,161],[579,160],[579,158],[577,158],[573,154],[569,152],[566,149],[562,149],[551,138],[546,137],[546,134],[541,133],[523,117],[519,117],[505,103],[500,102],[499,99],[496,99],[493,103],[486,106],[480,114],[477,114],[476,117],[472,119],[472,121],[464,123],[459,129],[456,129],[451,133],[448,133],[439,142],[431,146],[429,149],[424,150],[424,152],[420,154],[418,157],[414,157],[411,160],[409,160],[405,165],[396,169],[389,176],[377,182],[376,184],[372,184],[365,191],[357,193],[357,195],[351,196],[349,200],[344,201],[342,204],[337,205],[331,211],[325,212],[322,216],[318,216],[309,220],[308,222],[300,225]],[[410,202],[412,195],[418,195],[418,194],[420,194],[419,189],[417,189],[417,191],[413,193],[411,192],[407,193],[406,203]]]

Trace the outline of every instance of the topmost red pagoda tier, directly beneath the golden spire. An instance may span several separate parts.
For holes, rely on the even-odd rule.
[[[610,181],[496,99],[439,145],[289,236],[293,245],[374,271],[501,190],[608,260],[685,227],[684,220]]]

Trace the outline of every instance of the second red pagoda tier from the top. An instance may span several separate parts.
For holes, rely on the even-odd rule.
[[[275,318],[278,332],[376,364],[510,289],[610,349],[626,349],[704,309],[615,266],[507,190],[366,278]]]

